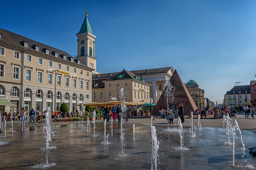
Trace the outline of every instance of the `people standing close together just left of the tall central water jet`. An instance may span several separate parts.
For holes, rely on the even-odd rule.
[[[103,120],[105,121],[106,119],[107,123],[109,123],[109,119],[111,115],[114,122],[116,121],[117,118],[118,118],[118,123],[121,122],[122,108],[119,104],[117,105],[117,107],[114,104],[111,108],[109,107],[109,105],[104,106],[102,113],[103,113]]]

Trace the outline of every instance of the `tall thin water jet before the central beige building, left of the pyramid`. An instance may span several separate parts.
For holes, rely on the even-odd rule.
[[[122,99],[122,103],[121,103],[121,108],[122,108],[122,113],[121,113],[121,135],[120,135],[120,139],[121,139],[121,154],[120,156],[126,156],[126,154],[124,154],[124,132],[123,132],[123,122],[124,122],[124,114],[126,113],[126,104],[125,104],[125,97],[124,97],[124,89],[122,88],[121,90],[121,99]]]

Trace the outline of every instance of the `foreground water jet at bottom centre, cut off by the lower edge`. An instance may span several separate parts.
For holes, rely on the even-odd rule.
[[[152,156],[151,156],[151,169],[157,169],[157,157],[159,141],[157,141],[156,130],[154,126],[151,126],[151,139],[152,139]],[[153,168],[155,167],[155,168]]]

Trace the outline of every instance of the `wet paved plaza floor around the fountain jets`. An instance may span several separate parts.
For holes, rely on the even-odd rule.
[[[248,148],[254,147],[256,131],[253,129],[256,120],[244,119],[238,115],[236,120],[242,129],[245,155],[242,157],[239,133],[235,138],[235,163],[239,169],[253,169],[256,159]],[[158,169],[233,169],[232,145],[227,142],[226,130],[221,119],[201,119],[201,129],[196,130],[196,137],[189,133],[189,119],[184,124],[184,147],[180,148],[178,119],[167,129],[166,119],[156,118],[153,125],[156,128],[159,141]],[[3,121],[2,121],[3,123]],[[134,118],[124,122],[126,156],[120,157],[120,125],[117,122],[107,124],[109,144],[104,141],[103,120],[96,122],[96,137],[93,125],[87,129],[78,126],[77,121],[53,122],[55,135],[50,142],[48,161],[56,163],[48,169],[150,169],[152,141],[149,118]],[[135,134],[133,134],[135,124]],[[194,119],[197,126],[197,119]],[[14,121],[14,131],[11,133],[11,122],[7,122],[7,137],[0,138],[0,169],[33,169],[34,165],[46,162],[45,137],[43,123],[20,126],[20,121]],[[211,126],[211,127],[210,127]],[[230,141],[232,138],[230,137]]]

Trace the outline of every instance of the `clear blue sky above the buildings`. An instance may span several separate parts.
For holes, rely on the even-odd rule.
[[[173,66],[222,103],[255,75],[256,1],[4,1],[0,28],[76,55],[85,11],[97,71]]]

